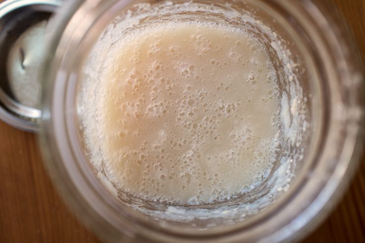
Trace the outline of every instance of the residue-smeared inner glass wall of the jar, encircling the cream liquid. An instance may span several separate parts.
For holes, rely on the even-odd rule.
[[[117,2],[100,16],[95,22],[98,27],[92,28],[88,33],[90,37],[82,43],[88,55],[83,55],[85,58],[77,67],[74,111],[67,114],[70,114],[72,125],[78,128],[78,143],[84,157],[79,163],[86,162],[87,170],[94,175],[91,180],[98,178],[103,184],[109,194],[109,198],[105,198],[107,203],[117,211],[128,212],[133,218],[159,229],[189,234],[226,231],[227,227],[232,229],[232,225],[248,226],[285,203],[300,187],[313,163],[323,133],[322,113],[325,110],[324,84],[319,81],[310,40],[294,19],[285,18],[286,14],[274,3],[262,1],[194,0],[140,1],[127,7]],[[279,87],[280,146],[275,151],[275,161],[268,176],[236,198],[197,205],[146,201],[108,181],[97,133],[90,135],[89,132],[98,130],[97,114],[90,115],[85,101],[95,99],[90,94],[97,95],[100,72],[106,68],[105,60],[122,35],[165,22],[189,21],[243,29],[264,46],[276,71],[273,81]],[[84,115],[85,111],[88,116]],[[94,120],[94,124],[86,124],[85,119]]]

